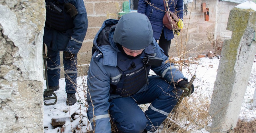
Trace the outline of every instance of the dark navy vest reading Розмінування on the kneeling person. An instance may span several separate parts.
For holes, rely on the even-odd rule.
[[[117,54],[117,67],[122,76],[116,85],[110,85],[112,94],[127,97],[137,93],[146,84],[151,68],[151,65],[144,65],[142,61],[146,55],[143,52],[141,58],[129,59],[123,53]]]

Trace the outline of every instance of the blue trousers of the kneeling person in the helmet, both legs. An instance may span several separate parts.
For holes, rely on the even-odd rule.
[[[130,97],[110,100],[110,117],[119,132],[154,132],[166,119],[181,96],[182,90],[159,76],[150,76],[146,91]],[[151,103],[143,112],[138,104]]]

